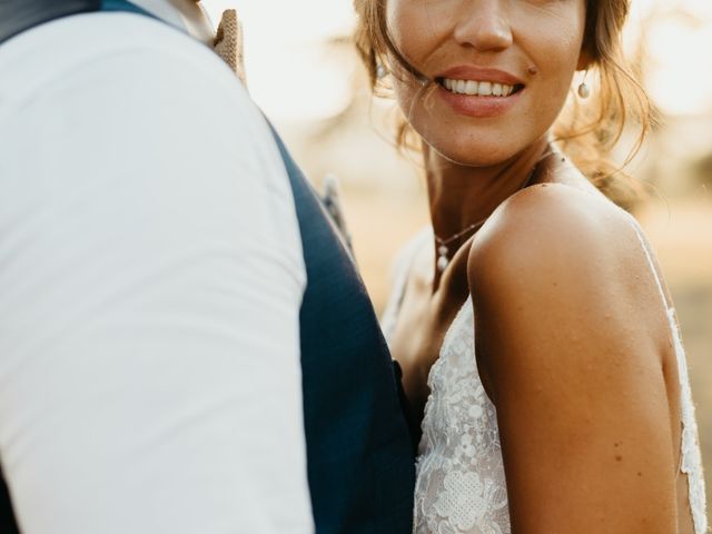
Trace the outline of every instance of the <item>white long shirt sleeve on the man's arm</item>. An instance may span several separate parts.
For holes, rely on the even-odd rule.
[[[96,55],[4,115],[0,456],[26,534],[313,531],[294,200],[210,53]]]

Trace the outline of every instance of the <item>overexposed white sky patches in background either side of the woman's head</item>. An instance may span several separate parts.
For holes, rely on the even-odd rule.
[[[352,0],[204,0],[217,23],[224,9],[237,9],[245,29],[245,56],[253,98],[280,122],[325,118],[349,97],[349,75],[324,42],[354,24]],[[646,27],[653,59],[649,90],[673,115],[712,109],[712,0],[633,0],[630,36],[655,7],[688,8],[699,17],[663,17]]]

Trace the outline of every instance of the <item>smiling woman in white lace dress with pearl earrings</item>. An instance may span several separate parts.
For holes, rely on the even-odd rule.
[[[604,195],[622,182],[602,156],[647,120],[621,59],[629,0],[355,6],[427,177],[432,229],[384,317],[422,422],[414,531],[706,532],[670,295]],[[589,121],[560,117],[576,71]]]

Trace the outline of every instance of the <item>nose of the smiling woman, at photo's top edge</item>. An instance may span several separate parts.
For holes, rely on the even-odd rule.
[[[455,41],[481,52],[508,48],[512,44],[512,27],[503,3],[506,1],[463,2],[463,9],[455,14]]]

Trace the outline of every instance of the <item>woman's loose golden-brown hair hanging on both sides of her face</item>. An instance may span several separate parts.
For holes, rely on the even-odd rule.
[[[639,152],[652,125],[651,103],[623,56],[622,32],[630,0],[587,0],[583,49],[591,58],[589,70],[597,75],[595,90],[585,105],[574,99],[554,126],[555,140],[578,169],[605,195],[626,205],[635,197],[627,176],[606,160],[626,127],[635,122],[637,136],[623,167]],[[389,96],[390,88],[378,78],[382,58],[395,59],[402,70],[417,72],[398,51],[386,26],[386,0],[354,0],[358,16],[354,36],[356,49],[368,71],[375,95]],[[591,78],[591,76],[589,77]],[[414,148],[413,130],[400,118],[396,142]]]

